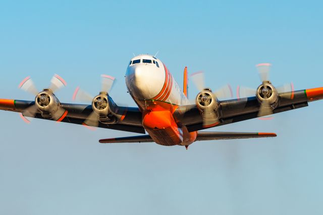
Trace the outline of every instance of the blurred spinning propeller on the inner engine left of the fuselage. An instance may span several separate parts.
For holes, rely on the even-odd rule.
[[[87,93],[84,90],[81,90],[79,87],[75,89],[75,92],[73,94],[73,101],[82,101],[82,102],[89,102],[92,103],[92,106],[94,105],[95,108],[100,109],[104,108],[107,105],[106,99],[104,99],[105,96],[109,95],[109,92],[111,91],[113,84],[115,82],[115,78],[108,75],[101,75],[101,91],[99,93],[99,96],[92,96],[91,94]],[[94,99],[93,99],[94,98]],[[93,110],[92,113],[86,118],[83,125],[86,127],[93,126],[97,127],[99,124],[99,115]]]

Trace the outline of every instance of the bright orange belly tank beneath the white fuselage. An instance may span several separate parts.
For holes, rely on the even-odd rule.
[[[147,111],[143,114],[142,125],[159,145],[175,146],[183,141],[183,131],[170,111]]]

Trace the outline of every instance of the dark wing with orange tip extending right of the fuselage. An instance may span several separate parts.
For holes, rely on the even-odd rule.
[[[279,97],[279,104],[274,109],[274,114],[306,107],[308,102],[323,99],[323,88],[280,93]],[[256,97],[220,101],[220,122],[207,127],[203,126],[203,120],[196,105],[179,107],[174,112],[174,117],[180,124],[186,125],[191,132],[257,118],[259,109],[260,105]]]

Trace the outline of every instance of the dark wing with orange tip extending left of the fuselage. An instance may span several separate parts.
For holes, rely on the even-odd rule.
[[[24,115],[24,110],[34,104],[34,101],[0,99],[0,110],[19,112]],[[66,110],[66,113],[57,120],[58,122],[85,125],[84,121],[93,112],[92,106],[85,104],[60,103],[60,107]],[[145,130],[142,127],[141,112],[139,111],[139,108],[118,106],[118,114],[121,115],[120,122],[115,124],[103,124],[100,122],[97,127],[145,133]],[[46,119],[42,117],[41,112],[37,112],[34,118]]]

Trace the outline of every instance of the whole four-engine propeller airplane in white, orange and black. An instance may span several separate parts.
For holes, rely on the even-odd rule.
[[[225,87],[212,92],[210,88],[204,87],[202,80],[194,78],[200,92],[196,96],[195,104],[190,104],[186,67],[182,90],[163,62],[151,55],[138,55],[131,59],[125,76],[128,91],[138,107],[118,106],[109,96],[114,78],[106,75],[102,75],[102,89],[94,98],[79,88],[76,89],[73,99],[90,101],[91,105],[61,103],[54,93],[66,83],[60,76],[55,75],[51,86],[40,93],[30,77],[27,77],[19,87],[34,94],[35,100],[0,99],[0,109],[19,112],[22,117],[142,134],[148,132],[148,135],[100,139],[101,143],[156,142],[163,146],[185,146],[187,149],[198,140],[274,137],[275,133],[264,132],[200,131],[306,107],[308,102],[323,99],[323,88],[299,91],[294,91],[293,88],[286,91],[286,87],[275,88],[268,80],[269,66],[268,63],[257,65],[261,85],[257,90],[240,89],[240,93],[252,93],[253,96],[241,98],[240,94],[238,99],[219,100],[232,94],[231,89]],[[200,74],[195,75],[201,77]]]

